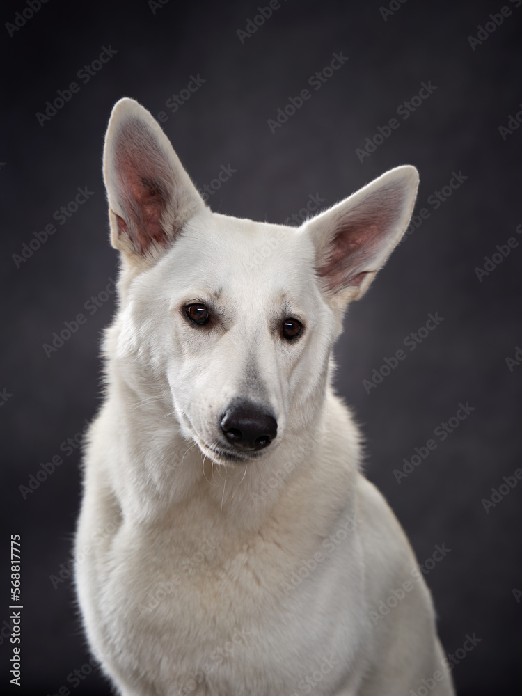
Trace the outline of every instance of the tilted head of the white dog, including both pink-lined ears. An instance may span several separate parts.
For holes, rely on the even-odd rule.
[[[312,427],[344,309],[406,230],[416,169],[389,171],[299,228],[214,214],[154,118],[122,99],[104,178],[122,255],[112,352],[127,388],[168,404],[219,464]]]

